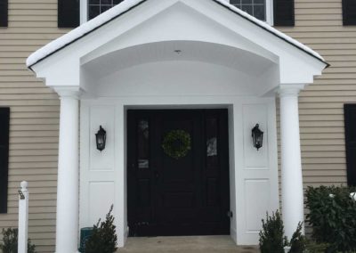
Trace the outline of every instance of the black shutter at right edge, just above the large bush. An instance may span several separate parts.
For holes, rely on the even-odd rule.
[[[344,104],[347,183],[356,186],[356,103]]]

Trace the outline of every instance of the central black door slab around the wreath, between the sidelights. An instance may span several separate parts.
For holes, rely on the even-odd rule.
[[[172,224],[192,224],[197,217],[198,192],[198,146],[201,145],[197,131],[199,120],[195,111],[161,112],[157,129],[159,141],[156,149],[158,165],[157,218],[166,229]],[[172,130],[184,130],[190,135],[191,150],[185,157],[174,159],[160,147],[164,136]],[[172,231],[174,230],[171,228]]]

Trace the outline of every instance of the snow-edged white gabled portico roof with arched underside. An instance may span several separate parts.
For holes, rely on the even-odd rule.
[[[231,85],[239,80],[258,96],[311,84],[328,67],[319,53],[223,0],[125,0],[44,45],[27,64],[57,92],[70,87],[100,95],[98,86],[109,82],[102,78],[111,74],[177,61],[196,62],[197,71],[207,63],[245,75]],[[223,82],[225,70],[217,74]]]

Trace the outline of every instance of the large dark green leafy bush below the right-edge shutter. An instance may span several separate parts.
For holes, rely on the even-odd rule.
[[[312,237],[329,244],[326,252],[356,251],[356,201],[350,197],[355,190],[320,186],[306,191],[306,207],[310,210],[306,217],[312,224]]]

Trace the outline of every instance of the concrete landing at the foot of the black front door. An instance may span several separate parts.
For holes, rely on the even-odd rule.
[[[236,246],[229,235],[130,237],[119,253],[257,253],[258,247]]]

